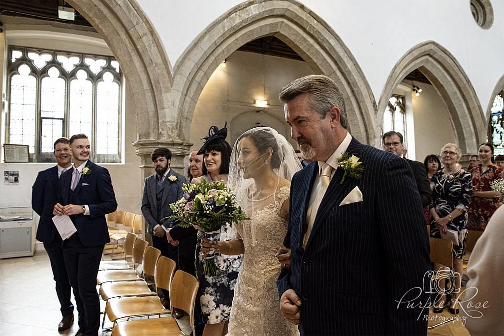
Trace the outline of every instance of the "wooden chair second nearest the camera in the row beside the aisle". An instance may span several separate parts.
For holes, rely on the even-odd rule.
[[[157,288],[170,290],[170,283],[175,273],[176,264],[173,260],[160,257],[155,271],[155,283]],[[170,299],[171,300],[171,299]],[[150,315],[169,314],[170,310],[163,307],[161,299],[156,296],[124,297],[110,299],[105,306],[108,319],[116,324],[116,321],[124,317],[139,317]]]

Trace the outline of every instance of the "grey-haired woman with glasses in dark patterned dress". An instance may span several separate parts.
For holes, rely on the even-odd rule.
[[[462,256],[467,239],[467,208],[471,202],[472,184],[471,174],[460,169],[457,162],[462,153],[458,145],[447,143],[441,150],[441,160],[445,165],[442,171],[432,175],[430,188],[432,190],[432,203],[430,204],[430,236],[443,238],[450,230],[457,236],[458,244],[453,244],[453,267],[456,272],[454,293],[458,293],[461,284],[460,275],[463,274]],[[440,272],[443,267],[434,263],[435,269]],[[445,288],[445,279],[438,281],[439,288]],[[438,294],[434,300],[434,313],[442,312],[449,305],[447,296]],[[451,300],[448,308],[452,314],[459,312],[459,303]]]

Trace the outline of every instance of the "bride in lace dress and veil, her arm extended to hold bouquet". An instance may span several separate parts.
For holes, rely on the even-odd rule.
[[[275,255],[284,247],[290,180],[300,169],[292,146],[270,127],[253,128],[236,140],[228,185],[251,219],[235,224],[236,239],[211,243],[204,238],[201,248],[203,253],[243,254],[228,335],[298,334],[280,312]]]

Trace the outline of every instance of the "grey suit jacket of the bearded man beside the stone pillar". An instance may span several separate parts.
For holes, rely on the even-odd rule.
[[[177,179],[175,181],[170,181],[169,177],[174,176]],[[182,198],[182,185],[185,183],[185,178],[175,173],[172,169],[166,175],[166,179],[163,181],[162,192],[163,196],[161,198],[161,217],[158,218],[157,212],[157,198],[156,198],[156,174],[149,176],[145,179],[144,184],[144,196],[142,198],[142,214],[144,215],[145,221],[147,223],[147,232],[153,232],[154,226],[157,224],[162,224],[164,228],[169,229],[173,226],[173,219],[165,219],[162,223],[160,222],[162,218],[171,216],[173,211],[170,209],[170,204],[178,201]]]

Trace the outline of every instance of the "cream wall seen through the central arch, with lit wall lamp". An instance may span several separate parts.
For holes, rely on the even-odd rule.
[[[201,146],[200,139],[208,134],[211,125],[220,128],[225,121],[231,146],[257,123],[273,127],[290,139],[278,93],[291,80],[313,73],[311,68],[303,61],[243,51],[232,53],[226,64],[214,71],[196,105],[191,125],[193,147]],[[255,100],[267,100],[269,107],[255,106]],[[295,142],[291,143],[297,148]]]

